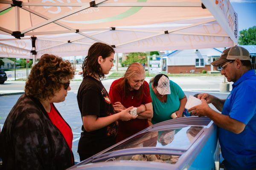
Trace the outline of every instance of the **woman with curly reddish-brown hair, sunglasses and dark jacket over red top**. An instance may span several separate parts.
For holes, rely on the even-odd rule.
[[[53,103],[65,100],[74,68],[55,55],[42,55],[32,67],[25,94],[0,133],[3,169],[64,170],[74,164],[73,133]]]

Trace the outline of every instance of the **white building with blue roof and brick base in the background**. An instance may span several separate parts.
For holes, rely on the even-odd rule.
[[[255,68],[256,46],[242,46],[247,49],[253,56],[252,63]],[[168,54],[162,55],[166,58],[166,65],[168,73],[193,73],[202,72],[219,72],[220,67],[214,67],[210,63],[218,60],[225,48],[211,48],[211,49],[187,49],[175,50]]]

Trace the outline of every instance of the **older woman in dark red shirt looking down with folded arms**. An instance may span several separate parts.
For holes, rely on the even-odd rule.
[[[132,63],[124,77],[113,81],[109,97],[116,111],[128,107],[137,107],[136,119],[119,121],[116,142],[140,132],[149,126],[148,119],[153,117],[153,107],[148,83],[145,80],[145,69],[140,63]]]

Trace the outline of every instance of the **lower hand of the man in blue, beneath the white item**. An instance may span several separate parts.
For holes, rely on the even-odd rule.
[[[207,104],[206,100],[201,99],[202,104],[199,104],[197,106],[191,107],[188,111],[192,111],[191,114],[192,115],[196,115],[196,116],[207,116],[207,113],[209,112],[209,109],[211,109],[209,107],[209,105]]]

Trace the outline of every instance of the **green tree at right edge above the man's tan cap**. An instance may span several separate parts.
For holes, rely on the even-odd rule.
[[[256,26],[239,32],[239,45],[256,45]]]

